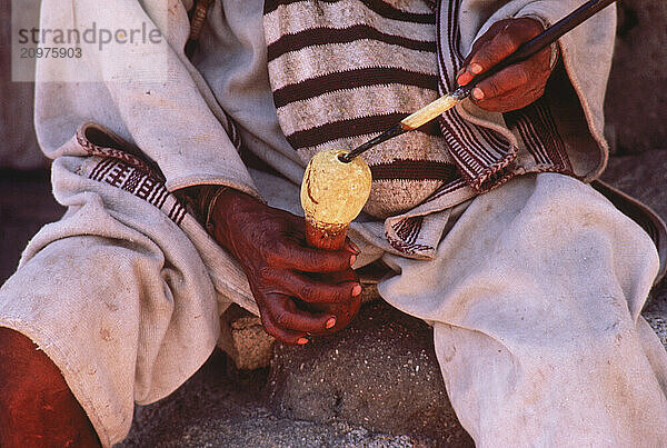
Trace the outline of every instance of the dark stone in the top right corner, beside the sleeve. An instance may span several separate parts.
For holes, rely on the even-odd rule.
[[[617,153],[666,149],[667,2],[624,0],[605,115]]]

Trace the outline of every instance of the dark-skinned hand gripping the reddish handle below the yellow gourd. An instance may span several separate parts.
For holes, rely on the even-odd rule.
[[[306,246],[303,218],[228,189],[211,215],[213,236],[241,265],[265,330],[286,344],[337,331],[359,310],[361,286],[351,265],[358,249]]]

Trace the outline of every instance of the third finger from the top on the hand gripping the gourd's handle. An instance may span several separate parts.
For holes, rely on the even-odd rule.
[[[297,308],[292,299],[282,295],[267,296],[267,320],[279,329],[293,333],[321,332],[336,325],[330,313],[310,313]]]

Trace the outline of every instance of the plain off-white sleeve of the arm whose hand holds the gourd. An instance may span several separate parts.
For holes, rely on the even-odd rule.
[[[37,62],[36,129],[49,158],[86,156],[72,136],[92,121],[155,162],[170,191],[221,185],[259,198],[233,122],[183,53],[189,20],[180,0],[44,0],[40,27],[81,33],[82,58]],[[88,39],[84,30],[93,30]],[[107,31],[112,41],[103,43]],[[138,44],[128,42],[133,31]]]

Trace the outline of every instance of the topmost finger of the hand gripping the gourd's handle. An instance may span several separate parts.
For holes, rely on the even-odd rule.
[[[313,249],[290,239],[277,242],[275,249],[268,255],[271,266],[303,272],[336,272],[349,269],[357,260],[357,256],[347,250]]]

